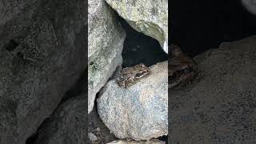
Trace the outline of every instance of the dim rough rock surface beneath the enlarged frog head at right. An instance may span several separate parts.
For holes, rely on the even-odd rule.
[[[256,36],[195,58],[201,72],[169,90],[172,143],[256,142]]]

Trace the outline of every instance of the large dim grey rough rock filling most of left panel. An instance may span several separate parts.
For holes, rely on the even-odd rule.
[[[0,2],[0,143],[23,144],[85,70],[83,2]]]

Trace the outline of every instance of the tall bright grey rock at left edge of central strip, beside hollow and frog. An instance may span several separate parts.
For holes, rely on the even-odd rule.
[[[88,72],[88,113],[94,107],[95,96],[122,65],[122,46],[125,31],[117,21],[114,10],[104,0],[89,0],[89,72]]]

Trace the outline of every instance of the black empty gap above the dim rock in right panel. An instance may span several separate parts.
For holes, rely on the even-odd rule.
[[[241,0],[173,0],[170,6],[170,43],[190,56],[256,34],[256,15]]]

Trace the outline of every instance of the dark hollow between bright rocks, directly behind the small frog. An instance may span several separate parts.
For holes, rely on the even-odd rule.
[[[157,62],[167,61],[168,55],[162,50],[157,40],[134,30],[120,16],[118,16],[118,21],[126,30],[126,39],[122,50],[122,67],[135,66],[139,63],[152,66]]]

